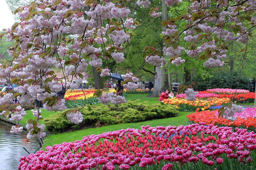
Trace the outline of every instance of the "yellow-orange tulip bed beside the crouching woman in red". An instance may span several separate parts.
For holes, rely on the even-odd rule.
[[[174,104],[176,107],[181,108],[181,111],[195,111],[197,108],[201,110],[206,110],[210,108],[210,106],[220,106],[222,104],[226,104],[230,101],[229,98],[212,98],[211,100],[195,100],[188,101],[186,99],[179,98],[168,98],[162,100],[165,104]]]

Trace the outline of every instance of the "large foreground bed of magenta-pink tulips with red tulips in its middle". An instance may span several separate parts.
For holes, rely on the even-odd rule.
[[[147,125],[48,146],[22,156],[18,169],[255,169],[255,137],[213,124]]]

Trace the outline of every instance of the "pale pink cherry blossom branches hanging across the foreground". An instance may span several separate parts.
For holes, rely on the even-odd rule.
[[[180,3],[181,0],[165,0],[159,7],[148,9],[149,15],[162,15],[159,8]],[[151,2],[138,0],[139,6],[147,8]],[[44,125],[38,103],[48,111],[66,110],[65,100],[55,92],[78,88],[82,83],[83,73],[88,64],[101,72],[100,76],[109,76],[111,70],[102,68],[105,60],[110,66],[113,61],[122,63],[125,59],[122,50],[129,45],[129,32],[140,27],[138,21],[130,18],[131,1],[127,0],[37,0],[15,10],[20,22],[4,30],[0,37],[15,41],[7,52],[13,59],[1,65],[0,85],[10,82],[18,86],[14,90],[2,93],[0,104],[10,103],[17,97],[21,108],[16,111],[1,111],[1,115],[16,122],[23,119],[22,107],[36,102],[33,110],[35,120],[27,121],[28,138],[41,138],[45,135]],[[161,66],[166,62],[180,65],[185,60],[183,52],[190,57],[206,60],[204,67],[212,69],[223,66],[229,46],[237,41],[247,44],[252,29],[256,24],[256,2],[254,0],[215,0],[188,1],[188,11],[176,18],[163,20],[161,26],[163,43],[154,42],[144,47],[144,59],[134,73],[124,70],[122,85],[127,89],[138,88],[136,74],[146,62]],[[181,39],[185,43],[180,43]],[[247,48],[241,49],[243,59]],[[51,69],[62,69],[62,77],[57,77]],[[71,78],[69,78],[71,76]],[[75,82],[73,82],[75,81]],[[191,86],[184,86],[189,99],[194,99]],[[122,91],[121,91],[122,92]],[[121,93],[120,92],[120,93]],[[119,94],[109,93],[108,88],[98,89],[94,93],[104,104],[119,104],[125,98]],[[36,113],[37,112],[37,113]],[[80,109],[67,110],[69,121],[80,123]],[[14,126],[12,133],[22,130]]]

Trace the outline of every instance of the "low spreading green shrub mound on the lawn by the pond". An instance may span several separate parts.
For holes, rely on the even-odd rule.
[[[118,105],[87,105],[80,110],[83,115],[83,122],[75,125],[67,121],[66,117],[60,117],[62,112],[56,112],[44,120],[46,129],[50,133],[59,133],[71,129],[81,129],[81,127],[100,127],[104,125],[114,125],[120,123],[134,123],[152,119],[163,119],[178,116],[178,108],[164,104],[163,102],[154,105],[147,102],[139,103],[127,101]]]

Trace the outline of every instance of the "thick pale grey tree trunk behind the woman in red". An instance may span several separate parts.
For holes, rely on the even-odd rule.
[[[168,20],[167,6],[162,0],[162,21]],[[165,27],[162,27],[163,31],[166,31]],[[161,67],[155,67],[155,82],[154,82],[154,91],[151,97],[160,96],[165,88],[171,90],[172,88],[172,79],[171,76],[166,74],[166,69]],[[170,80],[168,81],[168,77]],[[169,87],[170,86],[170,87]]]

